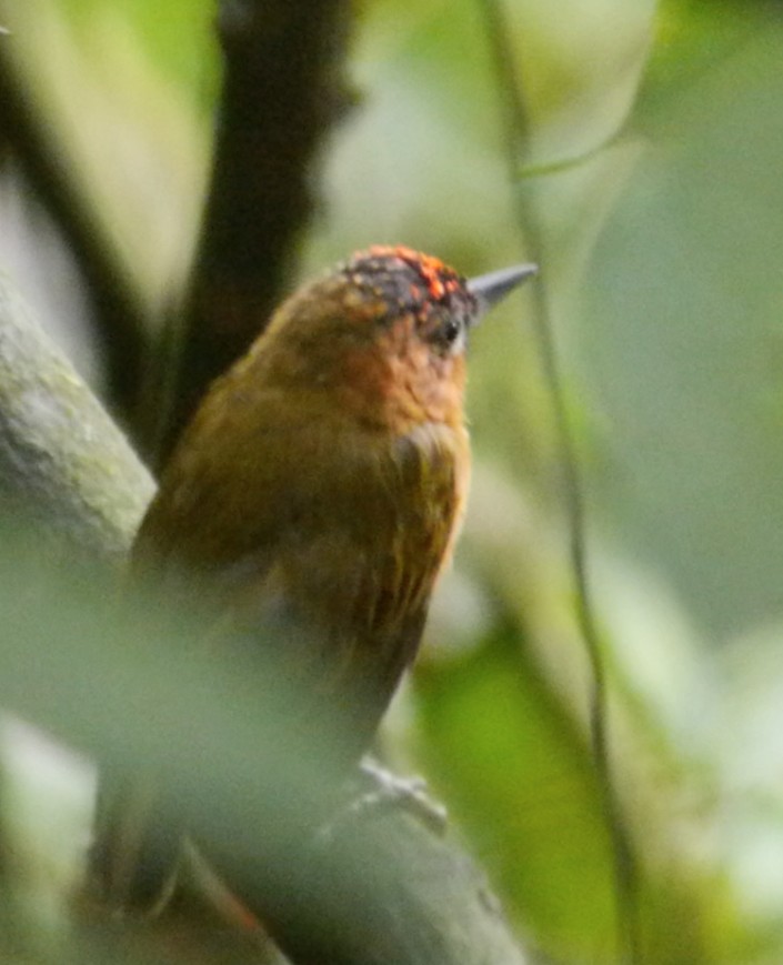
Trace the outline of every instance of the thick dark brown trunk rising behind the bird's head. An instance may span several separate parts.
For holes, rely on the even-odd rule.
[[[312,209],[312,164],[350,103],[347,0],[223,0],[220,128],[163,452],[207,385],[244,353],[280,300]],[[161,389],[165,395],[167,390]],[[159,446],[160,448],[160,446]]]

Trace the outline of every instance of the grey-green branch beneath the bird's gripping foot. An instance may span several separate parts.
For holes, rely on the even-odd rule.
[[[291,857],[299,873],[288,888],[279,882],[270,888],[247,854],[234,861],[235,875],[243,874],[230,879],[267,911],[297,965],[525,961],[483,874],[453,841],[401,808],[357,818],[328,847],[302,847]]]

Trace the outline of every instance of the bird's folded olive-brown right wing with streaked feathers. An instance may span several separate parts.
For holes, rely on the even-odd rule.
[[[371,732],[415,656],[459,530],[466,433],[424,424],[370,448],[354,469],[320,523],[281,554],[274,581],[312,631],[302,656],[314,688]]]

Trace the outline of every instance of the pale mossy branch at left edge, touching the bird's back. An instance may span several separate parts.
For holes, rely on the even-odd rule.
[[[0,503],[86,555],[121,557],[153,483],[0,274]]]

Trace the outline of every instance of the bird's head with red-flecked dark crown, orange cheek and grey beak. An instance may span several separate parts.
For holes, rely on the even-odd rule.
[[[370,248],[289,299],[252,354],[267,378],[332,395],[368,423],[461,422],[468,334],[534,271],[468,281],[410,248]]]

